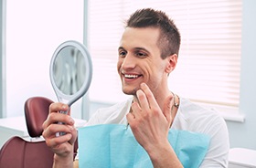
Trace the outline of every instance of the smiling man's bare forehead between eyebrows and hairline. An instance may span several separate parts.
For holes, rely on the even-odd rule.
[[[158,28],[133,28],[126,27],[120,41],[120,46],[125,49],[132,49],[135,47],[144,47],[147,50],[159,50],[157,41],[160,31]]]

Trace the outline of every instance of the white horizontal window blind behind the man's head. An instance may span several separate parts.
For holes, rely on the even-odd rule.
[[[123,23],[136,9],[152,7],[165,11],[182,37],[170,89],[197,102],[239,106],[241,0],[90,0],[88,4],[92,101],[126,98],[116,70]]]

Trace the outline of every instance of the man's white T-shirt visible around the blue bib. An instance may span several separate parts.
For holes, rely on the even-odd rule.
[[[86,125],[127,124],[126,114],[130,111],[132,100],[97,110]],[[229,133],[225,121],[218,112],[206,110],[181,98],[171,129],[207,134],[210,137],[210,144],[200,167],[228,167]]]

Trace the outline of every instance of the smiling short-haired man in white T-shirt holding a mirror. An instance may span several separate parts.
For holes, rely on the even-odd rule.
[[[88,125],[129,123],[154,167],[164,168],[183,167],[167,140],[170,128],[204,133],[210,137],[210,144],[200,167],[227,167],[229,135],[225,121],[216,112],[179,99],[168,89],[167,79],[176,68],[179,46],[179,31],[165,13],[148,8],[130,16],[118,48],[117,70],[123,92],[133,99],[98,110]],[[73,166],[77,131],[69,115],[58,113],[68,109],[62,103],[51,104],[43,124],[43,136],[55,152],[53,167]],[[58,121],[67,124],[56,124]],[[59,131],[67,134],[56,137]]]

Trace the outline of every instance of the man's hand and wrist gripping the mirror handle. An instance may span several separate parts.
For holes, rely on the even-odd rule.
[[[43,137],[48,147],[55,153],[53,167],[73,167],[73,148],[77,138],[77,130],[74,127],[73,119],[58,111],[69,110],[69,107],[62,103],[52,103],[49,107],[48,119],[43,123]],[[66,124],[57,124],[58,122]],[[65,135],[56,137],[57,132],[66,132]]]

